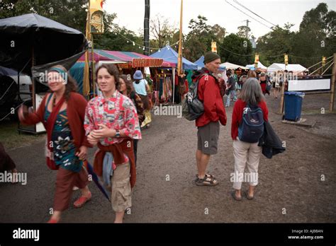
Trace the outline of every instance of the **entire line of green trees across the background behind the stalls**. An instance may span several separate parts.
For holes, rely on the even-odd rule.
[[[85,33],[87,4],[87,0],[1,0],[0,18],[38,13],[40,16]],[[142,53],[142,35],[136,35],[113,23],[115,18],[115,13],[105,13],[103,20],[105,31],[102,35],[94,35],[94,48]],[[189,21],[191,31],[183,35],[183,55],[186,59],[196,61],[211,50],[212,41],[217,42],[218,54],[223,62],[229,61],[240,65],[252,64],[254,52],[258,52],[259,59],[265,66],[274,62],[284,63],[283,54],[287,53],[289,63],[308,67],[320,61],[322,56],[330,57],[336,51],[336,12],[328,11],[327,4],[324,3],[306,11],[297,32],[291,31],[293,24],[286,23],[284,27],[276,26],[266,35],[259,37],[255,51],[245,38],[246,32],[250,31],[246,30],[245,26],[238,28],[237,35],[230,34],[225,37],[225,28],[218,24],[211,26],[207,22],[208,19],[201,15],[197,16],[196,20]],[[162,16],[156,16],[151,20],[151,32],[150,47],[163,47],[166,42],[173,45],[179,40],[179,30]],[[133,42],[127,42],[125,37],[133,40],[135,45]],[[174,45],[173,48],[177,50],[178,45],[177,47]],[[152,50],[156,51],[157,49]]]

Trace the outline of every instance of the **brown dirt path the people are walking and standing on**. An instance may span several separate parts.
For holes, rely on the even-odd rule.
[[[310,95],[305,99],[303,110],[327,108],[327,97]],[[211,158],[208,168],[220,181],[216,187],[197,187],[192,182],[196,174],[194,122],[154,117],[152,127],[143,131],[139,143],[138,180],[131,214],[125,216],[125,222],[335,223],[336,114],[303,115],[315,119],[316,126],[296,127],[282,124],[281,115],[274,114],[278,102],[267,98],[269,119],[280,138],[286,141],[287,150],[271,160],[262,156],[259,185],[252,201],[237,202],[230,197],[233,106],[227,108],[228,125],[220,127],[219,153]],[[18,169],[28,173],[28,184],[0,184],[0,222],[43,223],[49,218],[55,172],[47,170],[43,144],[39,141],[29,148],[10,151]],[[90,153],[92,160],[94,150]],[[321,175],[325,175],[325,181]],[[93,199],[82,209],[71,207],[64,213],[63,222],[113,222],[111,205],[94,184],[90,189]],[[76,192],[73,201],[78,196]]]

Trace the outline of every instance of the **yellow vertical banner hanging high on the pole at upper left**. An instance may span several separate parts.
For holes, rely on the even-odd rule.
[[[90,1],[90,32],[103,33],[103,0]]]

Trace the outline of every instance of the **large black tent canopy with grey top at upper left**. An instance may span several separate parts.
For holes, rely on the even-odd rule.
[[[0,19],[0,37],[0,65],[29,75],[32,66],[60,61],[87,48],[79,30],[35,13]]]

